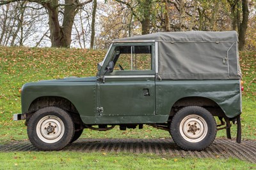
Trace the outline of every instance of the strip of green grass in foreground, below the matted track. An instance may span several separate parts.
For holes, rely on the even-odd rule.
[[[1,153],[3,169],[254,169],[238,159],[196,159],[135,153]]]

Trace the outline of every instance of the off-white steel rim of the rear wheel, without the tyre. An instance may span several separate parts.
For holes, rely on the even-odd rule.
[[[202,141],[207,135],[208,127],[204,118],[198,115],[188,115],[180,122],[181,136],[191,143]]]

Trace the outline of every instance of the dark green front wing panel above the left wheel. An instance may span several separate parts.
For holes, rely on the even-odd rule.
[[[29,111],[33,101],[39,97],[63,97],[76,107],[81,116],[95,115],[95,81],[38,81],[22,87],[22,113]]]

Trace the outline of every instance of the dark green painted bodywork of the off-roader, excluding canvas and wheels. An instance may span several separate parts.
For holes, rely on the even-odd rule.
[[[168,120],[173,104],[184,97],[209,98],[230,118],[241,113],[239,80],[156,79],[154,43],[125,43],[151,45],[152,70],[116,70],[106,73],[104,70],[116,45],[124,43],[113,44],[104,63],[98,66],[97,77],[70,77],[26,83],[22,87],[22,113],[29,111],[35,99],[45,96],[68,99],[76,107],[84,124],[164,123]],[[99,108],[103,108],[103,111]]]

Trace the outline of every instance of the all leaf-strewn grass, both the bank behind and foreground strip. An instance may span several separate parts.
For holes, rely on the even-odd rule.
[[[67,76],[94,76],[97,63],[105,51],[25,48],[0,46],[0,145],[27,140],[24,121],[13,122],[13,113],[20,113],[19,89],[29,81],[49,80]],[[243,71],[242,138],[256,139],[256,52],[241,53]],[[225,131],[218,131],[218,137]],[[236,125],[232,125],[232,137]],[[145,129],[97,132],[86,129],[81,138],[170,138],[166,131],[145,126]],[[3,169],[250,169],[252,164],[236,159],[195,159],[160,157],[132,153],[17,152],[0,153]],[[176,160],[177,159],[177,160]],[[135,160],[135,161],[134,161]],[[108,163],[106,163],[108,162]],[[244,168],[243,168],[244,167]],[[255,165],[254,165],[254,168]]]

